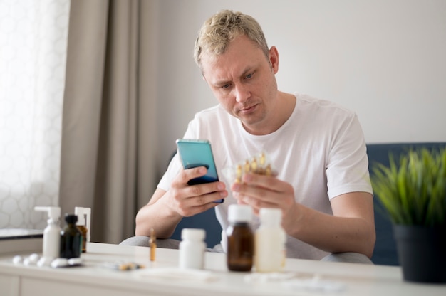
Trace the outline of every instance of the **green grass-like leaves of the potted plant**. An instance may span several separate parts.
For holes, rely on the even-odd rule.
[[[389,166],[375,164],[371,177],[391,221],[396,224],[445,226],[446,148],[414,150],[389,155]]]

